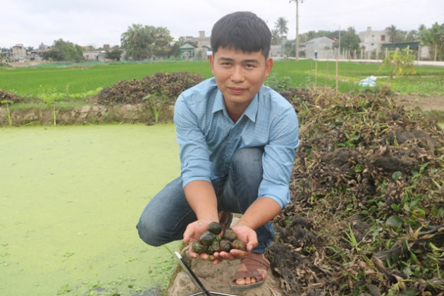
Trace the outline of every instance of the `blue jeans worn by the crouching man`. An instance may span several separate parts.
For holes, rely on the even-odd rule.
[[[243,214],[257,199],[262,180],[261,148],[244,148],[235,152],[228,175],[211,181],[216,192],[218,211]],[[137,223],[140,238],[148,245],[160,246],[182,240],[187,225],[196,215],[185,198],[181,178],[168,183],[145,207]],[[274,238],[271,223],[256,229],[259,245],[254,252],[264,253]]]

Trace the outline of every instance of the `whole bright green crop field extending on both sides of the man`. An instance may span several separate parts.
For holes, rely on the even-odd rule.
[[[440,94],[444,89],[444,70],[439,67],[416,66],[417,75],[390,80],[389,87],[400,93]],[[84,98],[109,87],[120,80],[140,79],[157,72],[188,71],[211,77],[208,61],[163,61],[152,63],[98,63],[23,68],[0,68],[0,89],[28,97],[42,94],[66,94],[66,97]],[[275,61],[271,86],[335,87],[335,61]],[[338,86],[340,92],[359,90],[359,81],[375,75],[376,85],[383,86],[389,68],[378,64],[340,62]],[[273,80],[273,81],[271,81]],[[266,81],[267,83],[267,81]],[[276,85],[276,83],[278,85]]]

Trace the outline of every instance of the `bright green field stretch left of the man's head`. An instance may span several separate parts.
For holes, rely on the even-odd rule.
[[[95,66],[0,68],[0,89],[38,97],[39,94],[84,94],[120,80],[144,78],[157,72],[189,71],[211,76],[207,62],[109,63]]]

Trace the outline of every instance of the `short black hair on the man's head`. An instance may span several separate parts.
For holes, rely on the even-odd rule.
[[[271,32],[264,20],[254,13],[239,11],[218,20],[211,30],[211,49],[240,49],[245,52],[261,51],[269,57]]]

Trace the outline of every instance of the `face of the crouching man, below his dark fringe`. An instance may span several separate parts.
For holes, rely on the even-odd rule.
[[[229,113],[247,108],[273,68],[273,60],[264,58],[261,51],[244,52],[230,47],[219,48],[210,56],[210,64]]]

